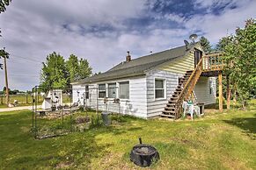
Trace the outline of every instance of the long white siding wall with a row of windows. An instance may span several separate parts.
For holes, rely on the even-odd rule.
[[[85,105],[92,109],[97,108],[97,96],[98,96],[98,84],[106,83],[106,96],[107,96],[107,83],[129,81],[129,99],[120,99],[120,104],[113,103],[113,99],[109,99],[107,103],[104,103],[104,99],[98,99],[99,110],[106,110],[115,113],[133,115],[135,117],[147,118],[147,99],[146,99],[146,78],[132,77],[129,79],[120,79],[116,81],[99,81],[97,83],[89,84],[89,96],[90,99],[86,99]],[[117,83],[117,88],[118,88]],[[78,85],[81,86],[81,85]],[[85,85],[82,85],[85,86]],[[73,86],[74,88],[77,85]],[[85,89],[84,89],[85,90]],[[118,98],[118,89],[117,98]],[[83,90],[81,91],[83,92]],[[73,96],[73,100],[76,100],[77,96]]]

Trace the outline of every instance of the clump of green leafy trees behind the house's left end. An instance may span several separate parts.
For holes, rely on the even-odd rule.
[[[71,54],[69,60],[57,53],[51,53],[47,57],[46,63],[43,63],[40,76],[40,86],[43,91],[48,89],[62,89],[69,87],[70,82],[84,79],[91,75],[91,67],[88,60],[77,59],[77,56]]]

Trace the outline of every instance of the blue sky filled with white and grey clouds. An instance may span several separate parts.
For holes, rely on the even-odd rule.
[[[256,18],[255,9],[255,0],[13,0],[0,15],[0,47],[11,53],[11,89],[26,90],[39,84],[48,53],[74,53],[104,72],[127,51],[132,58],[157,53],[182,46],[192,33],[215,45]]]

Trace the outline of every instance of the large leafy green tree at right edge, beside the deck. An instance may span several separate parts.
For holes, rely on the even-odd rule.
[[[236,34],[229,36],[228,43],[224,46],[227,66],[226,74],[230,75],[231,84],[236,85],[238,100],[245,107],[246,100],[256,87],[256,22],[249,19],[245,28],[238,28]]]

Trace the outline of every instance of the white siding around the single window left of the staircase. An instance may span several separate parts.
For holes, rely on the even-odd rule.
[[[168,99],[178,86],[179,77],[183,74],[164,70],[152,70],[147,74],[147,113],[148,117],[156,117],[164,110]],[[165,80],[165,99],[155,99],[155,79]]]

